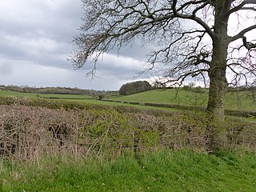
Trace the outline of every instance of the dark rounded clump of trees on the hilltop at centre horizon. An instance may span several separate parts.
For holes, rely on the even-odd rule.
[[[146,81],[138,81],[138,82],[128,82],[121,86],[119,90],[119,94],[121,95],[129,95],[129,94],[137,94],[142,91],[152,90],[152,86],[149,82]]]

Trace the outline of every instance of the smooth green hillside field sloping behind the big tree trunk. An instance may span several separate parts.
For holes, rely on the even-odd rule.
[[[182,106],[206,106],[208,91],[194,92],[190,90],[149,90],[146,92],[112,98],[126,102],[158,102]],[[255,110],[254,102],[249,91],[228,92],[226,94],[226,109],[229,110]]]

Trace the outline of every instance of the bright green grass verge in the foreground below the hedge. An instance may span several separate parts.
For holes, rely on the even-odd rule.
[[[162,150],[115,160],[0,163],[0,191],[256,191],[255,154]]]

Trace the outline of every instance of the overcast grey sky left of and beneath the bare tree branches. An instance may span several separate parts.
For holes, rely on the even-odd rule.
[[[142,70],[139,46],[106,54],[93,80],[74,70],[66,58],[82,24],[80,0],[2,0],[0,9],[0,85],[118,90]]]

